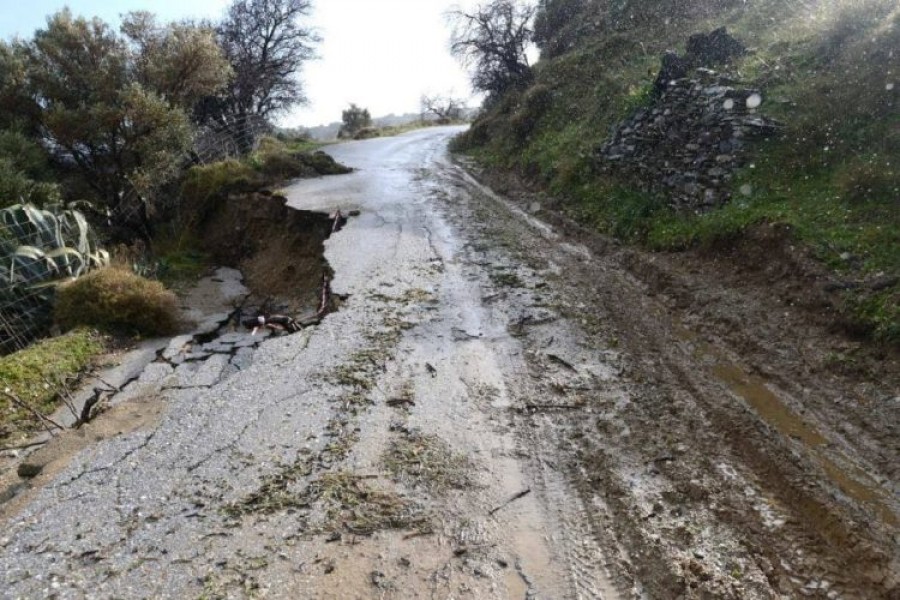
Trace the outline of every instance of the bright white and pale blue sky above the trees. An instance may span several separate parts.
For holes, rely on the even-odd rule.
[[[309,23],[323,38],[319,60],[303,74],[307,107],[280,119],[285,126],[339,121],[350,102],[372,116],[418,112],[422,93],[469,96],[462,68],[447,51],[444,14],[474,0],[314,0]],[[149,10],[161,20],[219,18],[230,0],[0,0],[0,36],[30,37],[47,15],[75,14],[118,25],[119,15]],[[474,101],[473,101],[474,102]]]

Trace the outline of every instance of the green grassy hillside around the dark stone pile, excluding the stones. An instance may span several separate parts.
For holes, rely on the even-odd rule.
[[[896,0],[549,0],[535,82],[499,99],[458,150],[518,172],[598,230],[653,249],[734,240],[784,224],[848,281],[900,274],[900,3]],[[611,128],[652,102],[660,55],[726,26],[751,51],[729,74],[784,125],[752,148],[735,198],[683,214],[599,173]],[[744,193],[738,193],[738,191]],[[747,191],[749,190],[749,193]],[[866,291],[862,291],[866,290]],[[873,337],[900,342],[900,287],[845,292]]]

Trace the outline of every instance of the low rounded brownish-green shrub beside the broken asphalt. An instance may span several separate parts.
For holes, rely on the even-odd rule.
[[[167,335],[178,328],[175,294],[120,267],[94,271],[60,286],[54,318],[63,329],[78,326],[140,335]]]

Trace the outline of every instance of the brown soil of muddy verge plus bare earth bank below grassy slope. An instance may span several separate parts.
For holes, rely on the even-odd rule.
[[[508,200],[478,221],[507,222],[497,204],[552,207],[490,182]],[[590,250],[559,282],[570,315],[630,357],[618,414],[553,417],[574,430],[584,501],[613,512],[597,531],[628,549],[624,579],[651,597],[895,597],[900,362],[846,326],[832,276],[777,226],[646,253],[539,217]],[[734,552],[691,550],[716,537]]]

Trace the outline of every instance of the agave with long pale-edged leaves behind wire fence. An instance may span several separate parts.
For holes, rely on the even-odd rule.
[[[80,211],[31,204],[0,209],[0,350],[49,324],[58,284],[108,263]]]

